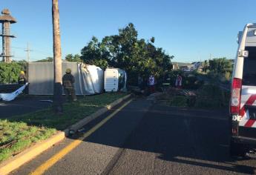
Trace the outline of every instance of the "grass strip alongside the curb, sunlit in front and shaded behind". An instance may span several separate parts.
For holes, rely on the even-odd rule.
[[[0,162],[20,153],[36,142],[52,136],[56,131],[64,130],[99,108],[125,96],[125,93],[103,93],[85,96],[77,102],[66,103],[64,113],[58,116],[51,108],[0,119]]]

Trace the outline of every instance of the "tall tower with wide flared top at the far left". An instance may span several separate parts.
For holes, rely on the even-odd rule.
[[[10,24],[16,23],[16,19],[13,16],[10,16],[10,11],[8,9],[4,9],[1,11],[0,23],[1,23],[1,33],[2,37],[2,53],[0,57],[2,57],[4,62],[11,62],[11,49],[10,49],[10,38],[15,38],[15,36],[10,33]]]

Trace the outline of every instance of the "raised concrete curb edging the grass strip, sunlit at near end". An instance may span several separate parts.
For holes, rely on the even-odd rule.
[[[116,101],[112,102],[110,105],[107,105],[106,107],[97,110],[95,113],[92,113],[90,116],[86,116],[85,119],[82,119],[79,122],[76,122],[76,124],[71,125],[69,128],[65,129],[65,131],[59,131],[55,135],[51,136],[49,139],[46,139],[42,142],[38,142],[36,143],[36,145],[33,145],[32,147],[22,151],[22,153],[18,153],[16,156],[13,156],[12,158],[7,159],[6,161],[0,164],[0,174],[1,175],[9,174],[11,171],[15,170],[16,168],[19,168],[24,163],[35,158],[40,153],[46,151],[48,148],[52,147],[56,143],[61,142],[63,139],[65,139],[65,136],[68,136],[71,130],[77,131],[79,128],[82,128],[82,126],[88,124],[88,122],[91,122],[91,120],[101,116],[103,113],[107,112],[111,108],[114,108],[114,106],[118,105],[120,102],[124,101],[125,99],[128,99],[130,96],[131,94],[124,96],[120,99],[117,99]]]

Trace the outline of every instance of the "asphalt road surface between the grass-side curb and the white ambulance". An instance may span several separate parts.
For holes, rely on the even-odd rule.
[[[87,133],[94,125],[87,125]],[[76,136],[14,171],[30,174]],[[45,174],[255,174],[255,159],[229,157],[225,111],[170,108],[137,99],[93,132]]]

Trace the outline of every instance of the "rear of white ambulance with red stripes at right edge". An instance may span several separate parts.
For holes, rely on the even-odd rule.
[[[256,145],[256,24],[238,33],[230,99],[232,156],[245,156]]]

